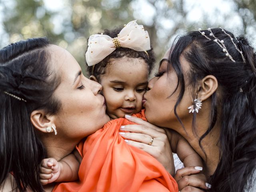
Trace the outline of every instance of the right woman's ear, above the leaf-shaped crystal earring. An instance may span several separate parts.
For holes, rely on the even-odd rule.
[[[215,76],[208,75],[201,80],[199,98],[204,101],[208,99],[218,88],[218,81]]]

